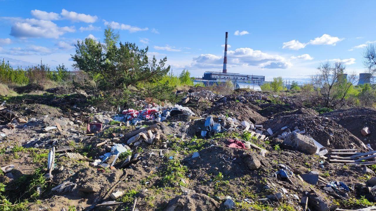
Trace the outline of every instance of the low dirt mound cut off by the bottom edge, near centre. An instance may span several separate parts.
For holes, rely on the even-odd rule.
[[[168,202],[165,211],[218,211],[219,203],[202,193],[177,196]]]

